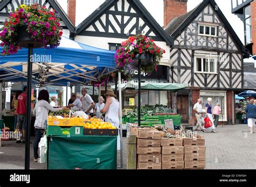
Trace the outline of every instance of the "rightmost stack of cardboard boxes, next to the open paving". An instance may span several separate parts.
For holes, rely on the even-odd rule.
[[[205,168],[205,139],[200,135],[184,138],[184,169]]]

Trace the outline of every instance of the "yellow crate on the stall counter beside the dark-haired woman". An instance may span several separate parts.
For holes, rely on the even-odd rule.
[[[83,126],[84,118],[75,117],[75,118],[64,118],[58,119],[55,116],[48,116],[48,126]]]

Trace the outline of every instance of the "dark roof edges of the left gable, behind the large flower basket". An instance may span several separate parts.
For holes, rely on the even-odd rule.
[[[11,2],[12,2],[12,0],[4,0],[0,4],[0,11],[2,11]],[[65,11],[62,9],[62,7],[59,5],[59,3],[56,0],[48,0],[48,3],[50,4],[50,6],[53,9],[55,9],[59,13],[60,18],[62,18],[62,21],[65,23],[66,27],[68,27],[70,32],[74,33],[75,32],[75,26],[72,24],[68,15],[66,15]]]

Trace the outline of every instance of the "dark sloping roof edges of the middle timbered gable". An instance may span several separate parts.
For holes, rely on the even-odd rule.
[[[139,0],[126,0],[127,2],[134,3],[137,8],[143,13],[145,18],[150,21],[150,23],[156,28],[158,33],[161,37],[166,41],[168,45],[172,45],[172,40],[170,37],[165,33],[163,28],[157,23],[157,21],[150,15],[149,11],[145,8],[145,6],[140,3]],[[91,13],[90,16],[88,16],[85,20],[82,21],[77,26],[76,35],[78,35],[80,32],[82,32],[86,27],[90,26],[99,15],[101,15],[105,10],[109,9],[111,6],[114,5],[114,3],[117,2],[117,0],[110,0],[105,1],[102,5],[99,6],[98,9],[96,9],[94,12]]]

